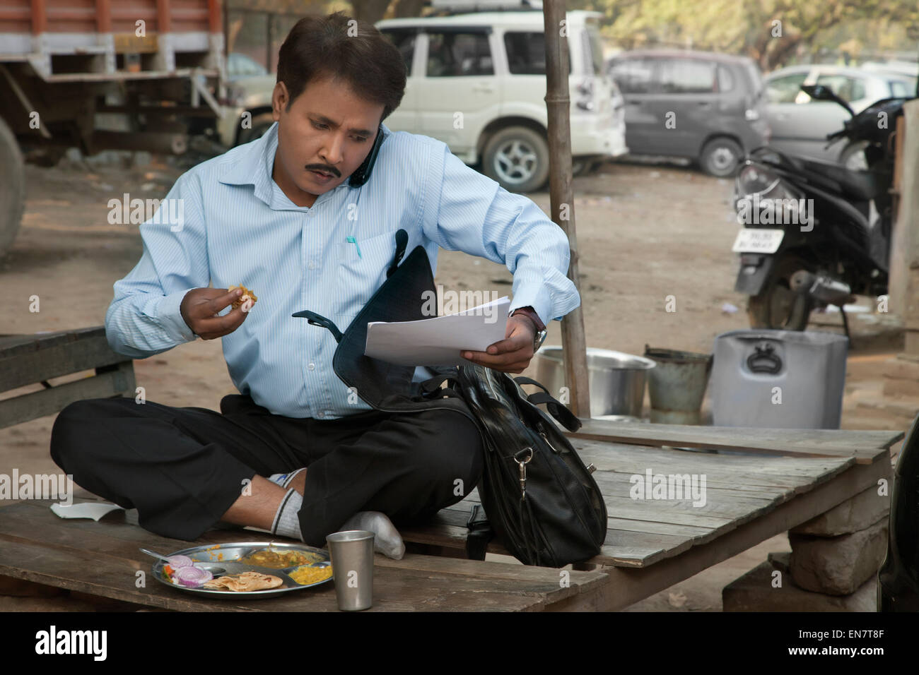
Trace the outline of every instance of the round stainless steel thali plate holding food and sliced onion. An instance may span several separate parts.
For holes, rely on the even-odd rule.
[[[250,557],[253,554],[267,551],[269,553],[289,554],[296,552],[305,557],[301,565],[294,565],[286,568],[267,568],[261,565],[253,565],[249,562],[241,562],[243,558]],[[305,544],[296,543],[278,543],[278,542],[233,542],[230,544],[215,544],[212,546],[193,546],[181,551],[170,553],[169,557],[187,556],[192,559],[196,567],[204,568],[213,573],[214,578],[224,575],[240,574],[242,572],[255,571],[264,574],[271,574],[281,579],[284,583],[276,589],[267,589],[265,591],[217,591],[205,588],[192,588],[181,586],[173,583],[166,576],[163,570],[165,562],[157,560],[153,563],[153,576],[166,586],[178,591],[188,591],[198,593],[199,595],[210,595],[215,598],[265,598],[270,595],[278,595],[289,591],[299,591],[300,589],[309,589],[313,586],[319,586],[334,576],[312,584],[300,584],[291,579],[288,574],[299,567],[324,568],[331,567],[329,552],[322,548],[306,546]]]

